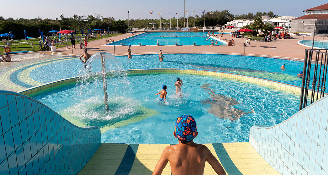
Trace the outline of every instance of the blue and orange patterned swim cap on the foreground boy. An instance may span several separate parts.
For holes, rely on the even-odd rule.
[[[190,142],[196,136],[196,121],[193,116],[182,115],[176,119],[174,130],[179,141]]]

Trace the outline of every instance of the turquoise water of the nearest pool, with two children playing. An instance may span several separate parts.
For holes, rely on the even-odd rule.
[[[182,98],[175,96],[176,78],[183,81]],[[299,101],[293,94],[254,84],[194,75],[143,75],[107,82],[109,112],[104,110],[102,81],[33,98],[73,123],[102,127],[102,142],[168,144],[177,143],[174,122],[183,114],[197,122],[195,142],[247,142],[251,126],[287,119],[297,112]],[[163,84],[168,87],[166,102],[155,96]]]

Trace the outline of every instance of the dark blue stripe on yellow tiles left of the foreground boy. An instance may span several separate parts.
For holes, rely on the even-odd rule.
[[[121,164],[118,166],[115,175],[119,174],[129,174],[130,170],[132,168],[134,159],[135,159],[135,154],[138,151],[139,144],[129,144],[124,157],[121,161]]]

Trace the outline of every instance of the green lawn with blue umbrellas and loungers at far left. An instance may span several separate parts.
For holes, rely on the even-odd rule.
[[[120,35],[120,34],[122,34],[122,33],[118,33],[118,34],[114,34],[114,35],[112,35],[111,34],[111,36],[116,36],[116,35]],[[71,37],[71,34],[68,34],[68,36],[69,36],[69,38]],[[76,38],[76,44],[75,45],[79,45],[78,43],[79,43],[79,41],[80,40],[77,40],[77,36],[81,36],[81,34],[77,34],[77,35],[74,35],[74,37]],[[106,37],[109,37],[109,35],[107,35]],[[52,37],[50,37],[50,38],[52,38]],[[102,38],[105,38],[105,36],[103,36]],[[102,39],[101,37],[98,37],[98,38],[89,38],[89,41],[93,41],[93,40],[97,40],[97,39]],[[14,38],[15,39],[15,38]],[[62,36],[62,39],[63,40],[65,40],[65,37],[63,37]],[[19,42],[23,42],[23,41],[25,41],[25,39],[22,39],[22,40],[20,40],[20,41],[14,41],[12,44],[18,44],[18,46],[10,46],[10,52],[17,52],[17,51],[33,51],[33,49],[34,49],[34,52],[36,52],[36,51],[40,51],[39,50],[39,39],[37,38],[37,39],[29,39],[28,41],[29,42],[31,42],[31,43],[33,43],[33,44],[35,44],[35,45],[33,45],[33,49],[32,49],[32,46],[31,46],[31,44],[19,44]],[[41,41],[42,41],[42,39],[41,39]],[[68,41],[68,43],[69,43],[69,45],[72,45],[71,44],[71,41],[69,40]],[[63,43],[64,45],[57,45],[57,44],[55,44],[55,46],[56,46],[56,48],[61,48],[61,47],[66,47],[66,41],[64,41],[64,43]],[[4,43],[1,43],[1,45],[5,45]],[[43,45],[42,45],[42,47],[43,47]],[[79,46],[77,46],[77,47],[79,47]],[[4,55],[6,52],[5,52],[5,48],[4,47],[0,47],[0,55]]]

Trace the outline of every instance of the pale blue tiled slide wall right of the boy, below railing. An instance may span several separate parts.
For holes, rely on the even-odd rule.
[[[281,174],[328,174],[328,96],[273,127],[253,126],[249,141]]]

